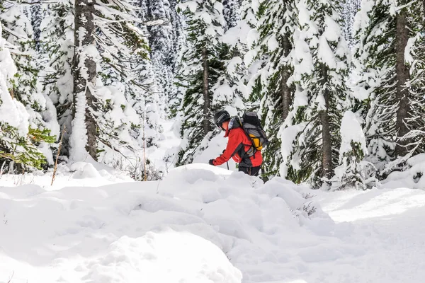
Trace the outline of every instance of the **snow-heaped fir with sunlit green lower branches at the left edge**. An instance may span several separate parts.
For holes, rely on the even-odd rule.
[[[49,141],[45,132],[30,127],[30,113],[9,91],[11,79],[16,74],[8,47],[13,47],[2,37],[0,23],[0,171],[6,166],[13,169],[18,163],[22,169],[40,168],[45,156],[35,146],[40,141]],[[21,173],[21,172],[19,172]]]

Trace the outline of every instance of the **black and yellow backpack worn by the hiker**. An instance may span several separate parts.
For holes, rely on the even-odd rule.
[[[241,120],[242,128],[249,139],[252,141],[253,151],[248,152],[249,156],[254,156],[256,151],[261,151],[268,144],[266,132],[261,127],[261,122],[256,112],[244,112]]]

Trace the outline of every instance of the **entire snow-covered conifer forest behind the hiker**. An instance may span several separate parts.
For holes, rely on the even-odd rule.
[[[264,179],[366,189],[424,173],[424,0],[3,0],[0,12],[1,173],[57,158],[159,179],[215,144],[219,109],[259,113]],[[180,144],[152,163],[170,121]]]

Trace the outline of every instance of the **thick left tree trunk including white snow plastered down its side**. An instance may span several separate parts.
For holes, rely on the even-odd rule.
[[[72,134],[78,134],[79,127],[86,129],[86,142],[80,144],[74,139],[74,146],[81,146],[96,160],[96,120],[91,113],[94,109],[96,98],[91,93],[90,88],[96,84],[96,62],[91,54],[91,48],[95,48],[94,42],[94,2],[93,0],[75,1],[75,47],[74,47],[74,128]],[[91,46],[91,48],[90,48]],[[84,113],[84,114],[83,114]],[[84,122],[83,122],[84,120]],[[80,149],[74,149],[80,151]],[[81,158],[81,156],[79,156]]]

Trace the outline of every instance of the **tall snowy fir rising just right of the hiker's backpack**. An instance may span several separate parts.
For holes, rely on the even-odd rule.
[[[252,98],[259,98],[264,129],[270,143],[263,151],[263,174],[278,175],[282,158],[278,129],[288,116],[293,100],[292,50],[293,33],[297,24],[295,1],[267,0],[259,6],[257,31],[259,40],[251,50],[256,54],[253,64],[261,65],[256,75]]]

